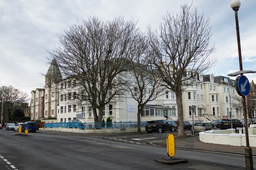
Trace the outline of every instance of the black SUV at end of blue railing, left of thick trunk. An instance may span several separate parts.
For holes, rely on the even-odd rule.
[[[166,130],[174,132],[175,127],[174,125],[166,122],[165,120],[152,120],[147,122],[147,124],[145,125],[145,130],[147,133],[152,133],[152,132],[162,133]]]

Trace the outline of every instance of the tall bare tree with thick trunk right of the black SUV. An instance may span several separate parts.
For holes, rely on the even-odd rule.
[[[196,81],[198,74],[207,71],[217,60],[209,57],[215,51],[210,45],[209,18],[204,19],[197,8],[184,4],[176,15],[167,13],[159,31],[148,28],[150,39],[150,60],[160,72],[164,86],[175,92],[178,112],[178,135],[186,136],[183,129],[182,93],[186,81]],[[192,74],[183,76],[186,70]]]

